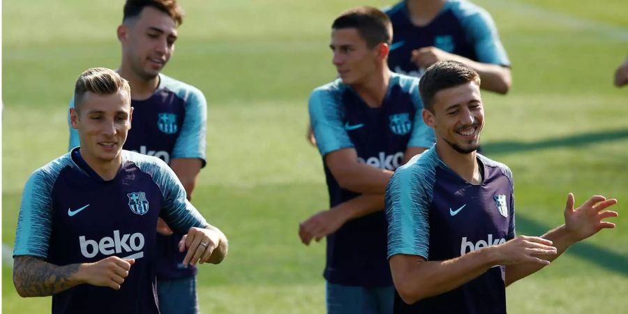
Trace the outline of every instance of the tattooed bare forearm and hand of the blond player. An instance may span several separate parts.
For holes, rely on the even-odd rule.
[[[40,257],[16,256],[13,284],[20,297],[45,297],[82,283],[118,290],[134,262],[112,256],[95,263],[57,266]]]

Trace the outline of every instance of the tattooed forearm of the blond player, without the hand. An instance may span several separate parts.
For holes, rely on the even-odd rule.
[[[77,285],[69,278],[76,274],[79,266],[57,266],[39,257],[17,256],[13,264],[13,283],[22,297],[49,296]]]

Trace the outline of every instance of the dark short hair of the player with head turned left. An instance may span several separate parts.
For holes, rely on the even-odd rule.
[[[336,17],[331,29],[358,30],[361,38],[366,41],[368,48],[373,48],[380,43],[392,42],[392,24],[388,15],[370,6],[359,6],[346,10]]]

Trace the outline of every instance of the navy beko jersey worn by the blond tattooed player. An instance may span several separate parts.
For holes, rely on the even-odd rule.
[[[78,150],[40,167],[27,181],[13,256],[59,266],[112,255],[135,258],[119,290],[77,285],[52,296],[52,313],[159,313],[157,218],[179,234],[207,222],[162,160],[122,151],[117,176],[104,181]]]

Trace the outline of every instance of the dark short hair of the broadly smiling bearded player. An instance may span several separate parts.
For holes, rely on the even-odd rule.
[[[434,112],[434,96],[442,89],[475,82],[480,85],[477,72],[458,61],[438,61],[430,66],[421,77],[419,93],[423,107]]]

